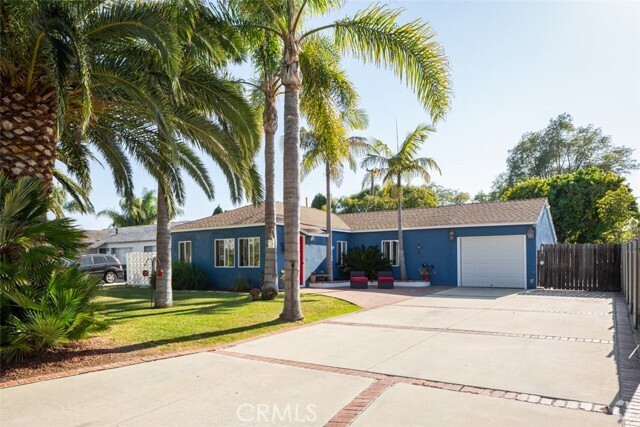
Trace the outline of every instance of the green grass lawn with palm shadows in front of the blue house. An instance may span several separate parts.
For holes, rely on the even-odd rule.
[[[158,354],[211,347],[301,324],[282,322],[283,295],[273,301],[251,301],[235,292],[174,291],[173,307],[154,309],[151,291],[109,287],[100,302],[111,326],[103,334],[121,351]],[[349,302],[302,294],[303,323],[359,310]],[[102,334],[101,334],[102,335]]]

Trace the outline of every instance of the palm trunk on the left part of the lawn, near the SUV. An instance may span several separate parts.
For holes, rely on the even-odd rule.
[[[173,294],[171,291],[171,223],[169,222],[169,205],[164,188],[158,182],[158,224],[156,231],[156,269],[163,270],[162,277],[156,276],[156,308],[171,307]]]

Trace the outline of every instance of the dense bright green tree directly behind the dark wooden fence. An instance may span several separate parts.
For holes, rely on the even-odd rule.
[[[626,180],[599,168],[551,178],[530,178],[509,188],[503,200],[546,197],[560,242],[599,243],[622,236],[623,224],[638,218]]]

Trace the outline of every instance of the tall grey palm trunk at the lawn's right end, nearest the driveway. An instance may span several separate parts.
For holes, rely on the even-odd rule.
[[[300,84],[298,45],[291,34],[285,46],[284,84],[284,309],[280,318],[303,318],[300,306]]]

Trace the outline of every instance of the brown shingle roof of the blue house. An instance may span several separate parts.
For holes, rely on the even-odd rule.
[[[467,203],[434,208],[403,209],[405,228],[445,228],[453,226],[486,226],[501,224],[535,224],[547,199],[512,200],[508,202]],[[276,203],[277,222],[282,223],[283,206]],[[345,231],[394,230],[398,228],[396,210],[333,214],[333,229]],[[237,227],[264,224],[264,206],[249,205],[183,223],[175,231]],[[300,208],[300,227],[326,226],[326,213],[319,209]]]

